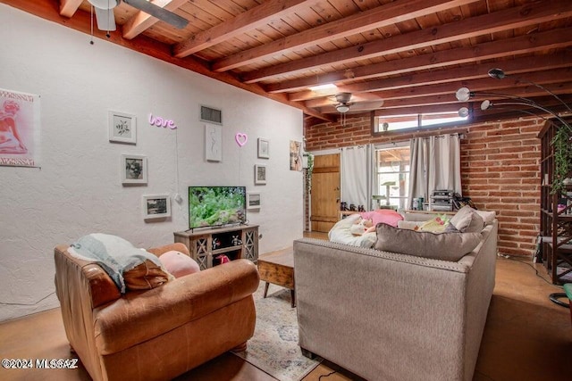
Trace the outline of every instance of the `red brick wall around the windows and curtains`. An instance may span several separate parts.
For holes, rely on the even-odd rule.
[[[463,195],[479,209],[496,211],[499,252],[531,257],[540,229],[540,140],[543,120],[488,122],[461,128]],[[443,128],[433,133],[459,131]],[[349,119],[345,126],[325,123],[305,128],[309,152],[351,145],[408,140],[418,133],[372,137],[369,117]]]

